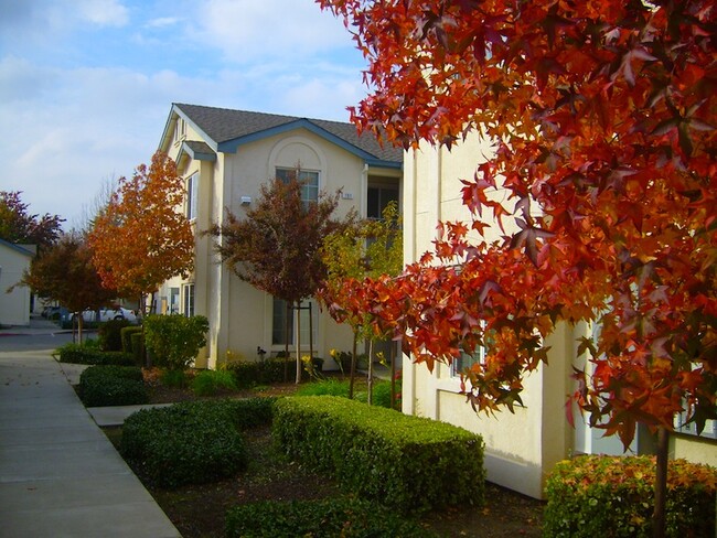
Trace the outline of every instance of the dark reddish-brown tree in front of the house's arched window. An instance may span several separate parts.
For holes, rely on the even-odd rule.
[[[226,219],[207,234],[215,238],[222,261],[243,281],[299,308],[313,297],[325,278],[321,258],[323,238],[352,222],[332,219],[339,194],[319,195],[317,202],[301,200],[301,182],[274,180],[261,185],[256,206],[239,218],[227,209]],[[288,308],[287,308],[288,310]],[[286,338],[286,356],[289,338]],[[297,346],[297,376],[301,380],[301,357]]]

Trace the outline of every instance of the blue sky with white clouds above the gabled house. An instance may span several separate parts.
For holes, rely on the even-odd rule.
[[[172,103],[349,121],[366,63],[314,0],[0,0],[0,191],[82,227]]]

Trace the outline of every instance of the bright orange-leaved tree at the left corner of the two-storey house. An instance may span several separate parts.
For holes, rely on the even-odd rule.
[[[149,169],[140,164],[131,180],[119,179],[88,236],[106,287],[139,298],[141,305],[162,282],[192,271],[194,235],[179,211],[183,202],[183,181],[162,152],[154,153]]]

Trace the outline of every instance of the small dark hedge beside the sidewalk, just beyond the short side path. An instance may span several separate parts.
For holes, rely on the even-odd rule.
[[[79,398],[86,407],[147,404],[142,370],[135,366],[90,366],[79,376]]]

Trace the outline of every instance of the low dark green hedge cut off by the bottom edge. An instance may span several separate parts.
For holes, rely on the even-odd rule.
[[[234,507],[226,516],[227,538],[429,538],[436,534],[389,508],[352,498],[263,502]]]

